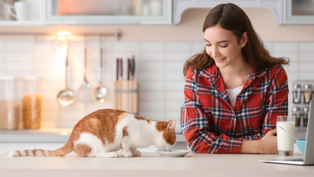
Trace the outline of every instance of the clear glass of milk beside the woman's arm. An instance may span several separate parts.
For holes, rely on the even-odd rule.
[[[293,156],[293,147],[295,139],[293,139],[287,132],[295,136],[295,121],[296,116],[277,116],[277,147],[278,156]],[[281,126],[283,129],[281,129]]]

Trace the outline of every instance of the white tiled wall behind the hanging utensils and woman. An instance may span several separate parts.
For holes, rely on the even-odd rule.
[[[285,67],[289,88],[295,79],[314,80],[314,42],[265,42],[274,56],[286,56],[291,64]],[[87,80],[98,84],[99,41],[87,41]],[[65,87],[64,42],[0,41],[0,76],[42,76],[38,92],[43,95],[42,127],[72,128],[75,123],[97,109],[112,108],[112,82],[115,80],[117,57],[135,56],[135,80],[139,81],[139,116],[153,120],[178,121],[181,131],[181,106],[184,100],[183,63],[201,52],[204,42],[138,42],[105,41],[103,47],[103,84],[107,99],[99,103],[75,102],[63,106],[56,95]],[[77,94],[83,81],[83,42],[69,42],[69,86]],[[124,73],[126,78],[126,71]],[[292,94],[289,94],[291,109]]]

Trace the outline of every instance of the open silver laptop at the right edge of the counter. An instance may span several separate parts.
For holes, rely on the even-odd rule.
[[[278,164],[294,164],[294,165],[314,165],[314,102],[313,100],[310,102],[310,109],[309,109],[309,114],[308,114],[304,158],[260,160],[260,162],[278,163]]]

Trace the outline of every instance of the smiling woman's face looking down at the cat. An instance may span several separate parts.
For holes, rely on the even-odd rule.
[[[235,62],[243,60],[242,48],[247,42],[247,32],[239,44],[237,36],[231,31],[222,29],[218,25],[207,28],[204,32],[206,41],[206,53],[211,56],[218,68],[223,69],[228,65],[232,66]]]

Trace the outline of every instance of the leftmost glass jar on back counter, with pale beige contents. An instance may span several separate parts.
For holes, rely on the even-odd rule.
[[[0,77],[0,128],[18,129],[21,113],[19,100],[19,78],[14,76]]]

